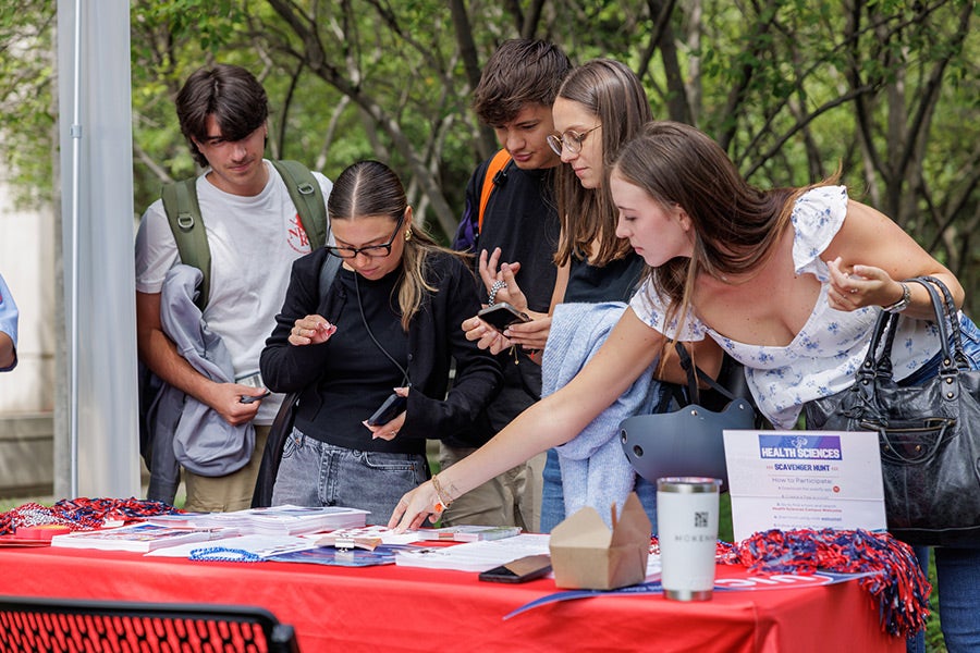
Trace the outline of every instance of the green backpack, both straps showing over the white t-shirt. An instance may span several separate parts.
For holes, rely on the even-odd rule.
[[[298,161],[272,161],[290,190],[299,213],[299,222],[309,238],[311,249],[327,244],[327,209],[323,193],[313,173]],[[208,305],[211,282],[211,249],[205,232],[204,219],[197,204],[197,177],[163,186],[163,210],[176,241],[181,262],[204,272],[200,293],[195,304],[200,310]]]

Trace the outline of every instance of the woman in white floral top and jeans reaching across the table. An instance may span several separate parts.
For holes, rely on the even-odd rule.
[[[632,310],[574,380],[438,475],[439,493],[428,482],[406,494],[392,526],[417,526],[437,502],[562,444],[652,361],[660,358],[663,368],[670,338],[707,336],[743,362],[759,408],[779,428],[792,428],[805,403],[852,383],[882,309],[914,318],[902,320],[895,338],[895,379],[921,383],[936,373],[931,299],[924,287],[898,280],[940,279],[957,307],[963,286],[843,187],[754,188],[701,132],[653,122],[621,150],[610,189],[620,211],[616,235],[629,238],[650,268]],[[960,323],[980,369],[980,334],[963,315]],[[917,554],[924,564],[928,550]],[[946,646],[978,651],[980,547],[936,549],[935,557]]]

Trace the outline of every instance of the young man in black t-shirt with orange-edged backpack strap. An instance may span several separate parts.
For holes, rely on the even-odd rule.
[[[551,106],[565,75],[568,58],[540,40],[504,42],[487,62],[474,91],[474,110],[493,127],[511,160],[490,181],[494,184],[478,226],[480,196],[488,182],[488,159],[466,187],[466,208],[453,247],[490,258],[499,248],[499,263],[519,263],[517,282],[529,311],[547,316],[555,285],[553,261],[560,224],[553,200],[554,169],[561,163],[546,138],[554,133]],[[482,287],[490,301],[490,287]],[[443,441],[442,467],[458,461],[490,440],[525,408],[540,398],[541,367],[529,352],[515,347],[499,356],[504,381],[465,438]],[[446,525],[520,526],[537,531],[540,521],[543,455],[515,467],[461,496],[443,514]]]

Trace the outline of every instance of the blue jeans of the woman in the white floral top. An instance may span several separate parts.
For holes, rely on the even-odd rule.
[[[963,348],[972,369],[980,370],[980,329],[966,316],[959,321]],[[939,372],[940,356],[922,366],[903,384],[920,384]],[[923,571],[929,569],[929,547],[915,546]],[[980,651],[980,549],[935,547],[935,576],[943,640],[950,653]],[[906,642],[909,653],[926,651],[926,634]]]

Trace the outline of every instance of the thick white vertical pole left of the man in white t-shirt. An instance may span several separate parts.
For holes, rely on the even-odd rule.
[[[139,493],[128,2],[58,0],[72,497]]]

